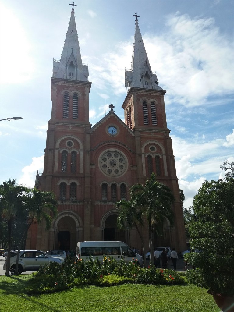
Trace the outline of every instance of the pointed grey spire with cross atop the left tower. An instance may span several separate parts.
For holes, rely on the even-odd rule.
[[[73,79],[79,81],[88,81],[88,66],[82,65],[80,46],[76,31],[76,21],[74,13],[74,2],[72,2],[72,11],[66,39],[63,46],[60,62],[54,61],[54,77],[63,79]],[[56,64],[55,64],[56,63]],[[56,67],[55,67],[56,65]],[[57,71],[56,71],[56,69]]]

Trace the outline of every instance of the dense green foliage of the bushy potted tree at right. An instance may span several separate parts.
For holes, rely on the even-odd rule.
[[[188,280],[214,292],[233,295],[234,178],[226,174],[224,180],[205,181],[193,199],[193,209],[190,246],[201,252],[185,256],[197,267],[196,271],[188,271]]]

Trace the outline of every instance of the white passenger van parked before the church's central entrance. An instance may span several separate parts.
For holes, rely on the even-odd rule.
[[[112,256],[117,262],[121,258],[129,263],[137,259],[138,264],[143,266],[143,258],[139,254],[135,254],[132,249],[123,241],[78,241],[76,247],[76,259],[93,259],[98,257],[99,261],[103,261],[103,256]]]

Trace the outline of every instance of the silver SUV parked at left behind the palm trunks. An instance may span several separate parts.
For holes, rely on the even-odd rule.
[[[11,250],[10,273],[15,274],[17,250]],[[38,271],[40,266],[49,264],[51,261],[62,264],[61,259],[51,257],[41,250],[25,249],[20,251],[18,274],[25,271]],[[6,270],[7,258],[3,264],[3,270]]]

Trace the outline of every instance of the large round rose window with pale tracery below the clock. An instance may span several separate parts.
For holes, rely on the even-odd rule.
[[[99,168],[108,176],[119,176],[127,170],[128,162],[123,154],[109,150],[100,155]]]

